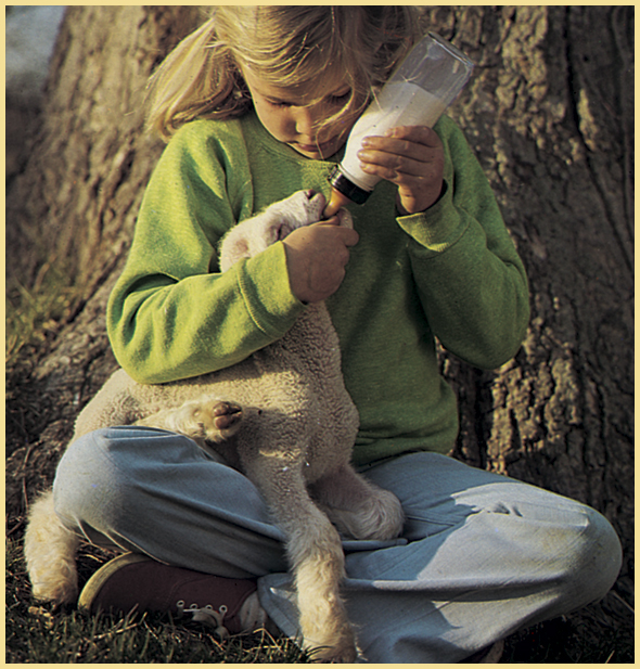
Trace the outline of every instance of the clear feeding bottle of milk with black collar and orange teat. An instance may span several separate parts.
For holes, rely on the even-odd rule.
[[[359,167],[361,141],[398,126],[433,127],[469,81],[472,68],[473,63],[462,51],[433,33],[411,49],[351,129],[345,156],[330,176],[325,218],[349,202],[363,204],[380,181]]]

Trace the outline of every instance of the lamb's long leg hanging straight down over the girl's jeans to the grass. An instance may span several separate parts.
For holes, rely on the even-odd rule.
[[[247,476],[287,537],[305,647],[315,649],[315,660],[353,662],[356,640],[340,597],[344,577],[340,536],[309,498],[300,468],[268,458],[245,463]]]

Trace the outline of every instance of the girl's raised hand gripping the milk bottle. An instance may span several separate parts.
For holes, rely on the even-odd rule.
[[[404,215],[424,211],[440,196],[445,152],[440,138],[426,126],[400,126],[364,138],[358,158],[368,175],[397,184]]]

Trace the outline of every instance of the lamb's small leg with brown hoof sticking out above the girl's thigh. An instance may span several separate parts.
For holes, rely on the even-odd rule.
[[[203,441],[221,442],[232,437],[242,425],[242,407],[235,402],[204,397],[180,407],[163,409],[136,425],[168,429]]]

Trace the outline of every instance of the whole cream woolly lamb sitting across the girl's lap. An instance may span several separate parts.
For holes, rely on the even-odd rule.
[[[320,220],[324,204],[321,194],[299,191],[238,224],[222,241],[221,270]],[[340,217],[350,227],[348,213]],[[284,337],[229,369],[163,385],[117,371],[78,416],[73,439],[132,423],[187,435],[256,485],[287,537],[305,645],[320,648],[317,659],[354,661],[355,634],[338,592],[344,554],[331,522],[356,539],[393,539],[404,516],[394,494],[349,464],[358,414],[324,304],[309,306]],[[77,543],[46,493],[33,505],[25,537],[37,599],[75,600]]]

